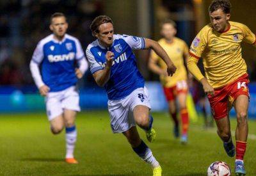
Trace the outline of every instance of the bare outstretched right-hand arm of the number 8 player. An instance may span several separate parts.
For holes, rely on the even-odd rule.
[[[164,51],[163,47],[161,47],[161,45],[159,45],[158,42],[154,40],[150,40],[148,38],[144,38],[144,40],[145,40],[145,49],[152,49],[154,52],[156,52],[156,54],[160,58],[162,58],[163,61],[166,63],[168,76],[172,76],[175,73],[177,68],[175,67],[175,65],[173,64],[172,60],[169,58],[167,53]]]

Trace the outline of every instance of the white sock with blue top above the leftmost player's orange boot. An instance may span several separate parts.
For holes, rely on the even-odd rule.
[[[76,143],[77,131],[76,126],[73,127],[66,127],[66,158],[73,158],[74,157],[74,148]]]

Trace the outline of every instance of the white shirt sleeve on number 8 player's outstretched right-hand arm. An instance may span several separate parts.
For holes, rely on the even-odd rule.
[[[143,37],[123,35],[125,42],[131,49],[145,49],[145,39]]]

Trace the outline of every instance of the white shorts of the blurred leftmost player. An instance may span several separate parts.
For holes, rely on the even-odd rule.
[[[80,111],[79,94],[76,86],[71,86],[59,92],[49,92],[45,97],[48,120],[56,118],[64,109]]]

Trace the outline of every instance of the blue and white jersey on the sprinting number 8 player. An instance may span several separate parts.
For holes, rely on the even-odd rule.
[[[137,68],[136,58],[132,49],[145,49],[144,38],[114,35],[111,47],[102,47],[99,44],[99,40],[95,40],[86,49],[86,57],[92,74],[97,70],[104,69],[107,51],[111,51],[115,55],[109,81],[104,86],[109,100],[122,99],[136,88],[144,87],[145,81]]]

